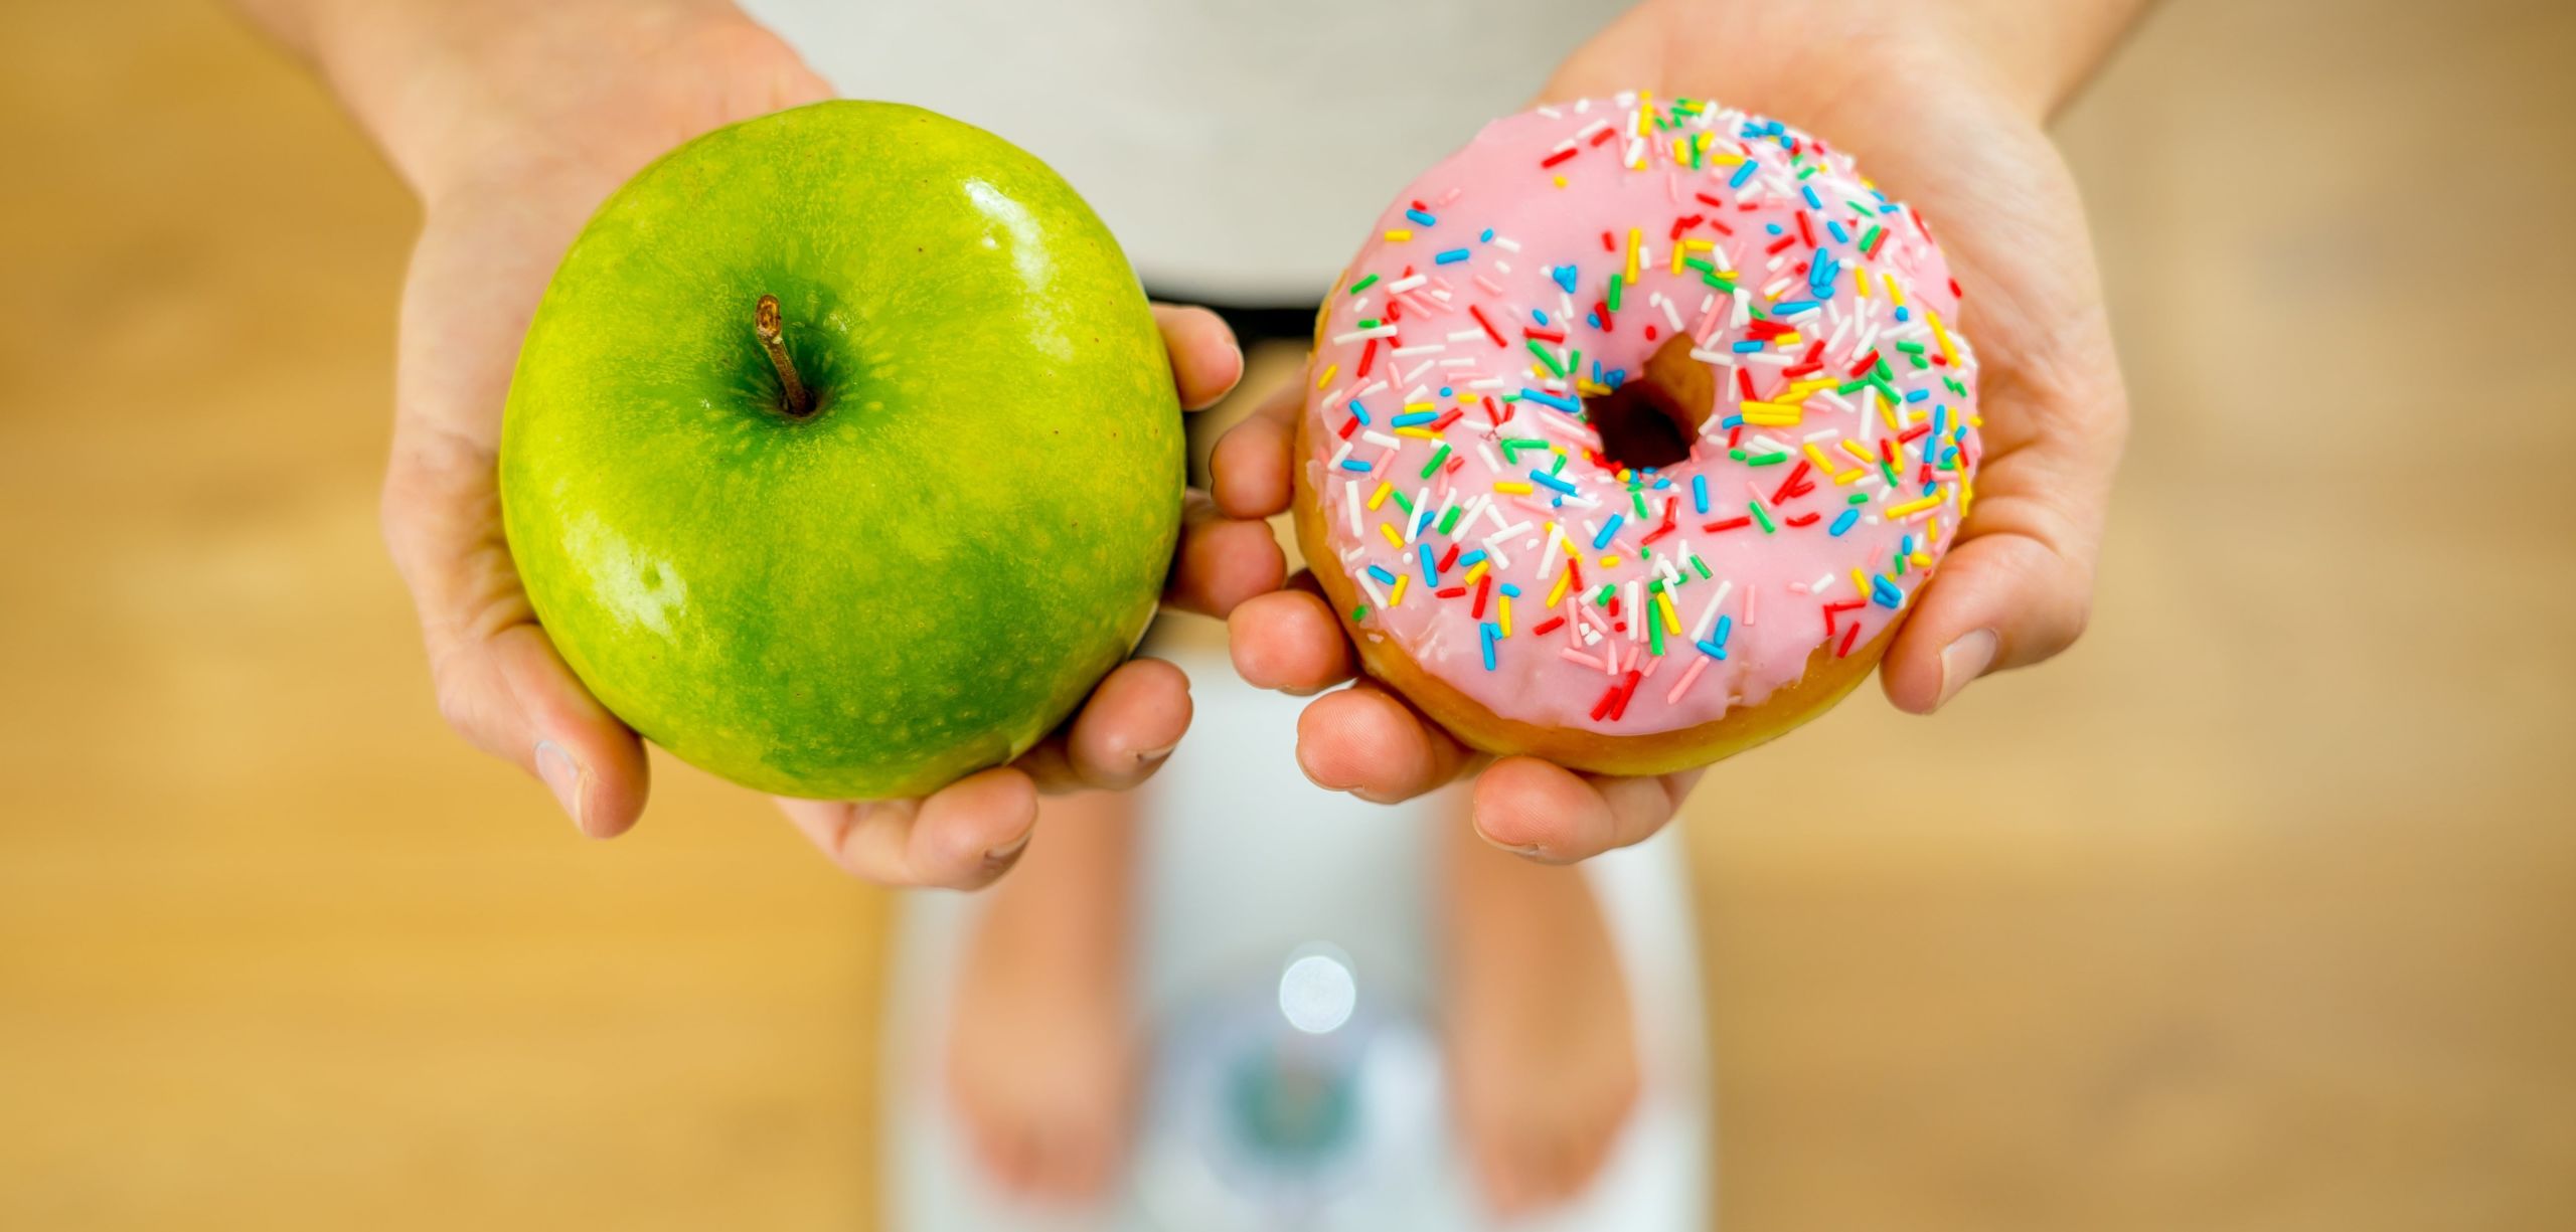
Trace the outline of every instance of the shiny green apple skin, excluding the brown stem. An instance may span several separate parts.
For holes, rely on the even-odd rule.
[[[778,296],[811,417],[752,332]],[[626,183],[510,381],[502,522],[626,725],[775,795],[1005,764],[1144,635],[1180,535],[1151,306],[1054,170],[969,123],[814,103]]]

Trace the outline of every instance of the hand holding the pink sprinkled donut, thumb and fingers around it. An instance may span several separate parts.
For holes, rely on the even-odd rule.
[[[2074,75],[2032,64],[2061,80],[2022,80],[2022,67],[1960,39],[1965,10],[1978,5],[1996,8],[1978,0],[1929,21],[1899,15],[1927,5],[1875,0],[1829,10],[1649,0],[1577,51],[1543,93],[1607,98],[1646,87],[1770,113],[1852,152],[1862,172],[1932,221],[1968,288],[1963,332],[1984,363],[1986,458],[1973,517],[1880,666],[1888,700],[1917,715],[1976,676],[2063,651],[2084,630],[2128,424],[2084,208],[2040,129]],[[1298,394],[1216,445],[1216,502],[1226,514],[1288,507]],[[1311,692],[1358,671],[1309,579],[1244,602],[1229,625],[1234,664],[1252,684]],[[1618,779],[1528,756],[1489,764],[1365,679],[1306,707],[1298,764],[1314,782],[1365,800],[1406,800],[1476,772],[1479,833],[1548,862],[1646,838],[1700,777]]]

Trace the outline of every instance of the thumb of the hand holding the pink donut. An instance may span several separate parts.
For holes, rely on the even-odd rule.
[[[1914,597],[1880,669],[1899,710],[1929,715],[1989,671],[2050,658],[2092,617],[2117,412],[2081,427],[2066,412],[1999,406],[1996,417],[2048,417],[2061,430],[2032,432],[1986,460],[1960,543]]]

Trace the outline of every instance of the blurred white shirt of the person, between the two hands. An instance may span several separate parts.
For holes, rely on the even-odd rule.
[[[744,0],[842,95],[1038,154],[1157,293],[1314,303],[1615,0]]]

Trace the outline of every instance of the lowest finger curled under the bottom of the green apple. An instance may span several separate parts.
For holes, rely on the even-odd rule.
[[[976,890],[1020,859],[1038,823],[1038,787],[1028,774],[997,766],[922,800],[778,797],[778,810],[855,877]]]

